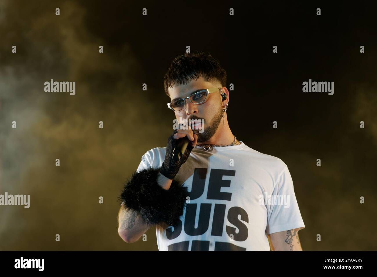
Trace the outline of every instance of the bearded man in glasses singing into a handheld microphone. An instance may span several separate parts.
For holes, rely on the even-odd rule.
[[[124,185],[118,233],[125,242],[156,226],[160,251],[302,250],[298,231],[305,225],[288,167],[231,132],[226,83],[209,54],[173,60],[164,78],[167,106],[176,119],[199,123],[147,151]],[[173,150],[185,136],[190,144],[175,162]]]

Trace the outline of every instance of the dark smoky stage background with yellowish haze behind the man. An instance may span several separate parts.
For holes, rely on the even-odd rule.
[[[118,236],[116,197],[166,146],[163,77],[187,45],[234,84],[234,135],[288,165],[303,249],[377,250],[375,18],[365,2],[0,1],[0,194],[31,198],[0,206],[0,250],[158,249],[155,228],[146,242]],[[50,79],[75,81],[76,95],[44,92]],[[309,79],[334,81],[334,95],[302,92]]]

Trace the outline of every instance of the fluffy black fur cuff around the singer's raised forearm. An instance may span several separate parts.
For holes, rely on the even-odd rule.
[[[172,181],[169,190],[159,186],[159,169],[134,171],[118,198],[124,202],[125,208],[137,211],[147,224],[166,222],[177,227],[189,193],[187,187],[175,180]]]

